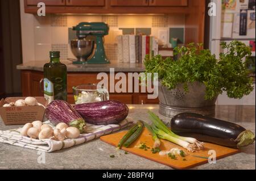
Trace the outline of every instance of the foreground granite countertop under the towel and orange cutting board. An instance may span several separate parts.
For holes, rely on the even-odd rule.
[[[148,121],[147,110],[158,113],[158,105],[130,105],[129,116]],[[158,113],[159,115],[159,113]],[[159,116],[166,123],[167,117]],[[255,106],[217,106],[216,116],[250,129],[255,133]],[[0,130],[21,127],[5,126],[0,121]],[[73,148],[46,153],[46,163],[37,162],[36,150],[0,143],[0,169],[172,169],[160,163],[138,157],[134,154],[122,154],[115,158],[114,146],[99,138]],[[241,150],[241,153],[218,159],[215,164],[204,164],[193,169],[255,169],[255,144]]]

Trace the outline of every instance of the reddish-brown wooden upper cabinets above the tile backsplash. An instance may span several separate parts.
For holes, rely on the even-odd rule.
[[[177,14],[184,15],[185,44],[204,43],[206,0],[24,0],[24,10],[36,14]]]

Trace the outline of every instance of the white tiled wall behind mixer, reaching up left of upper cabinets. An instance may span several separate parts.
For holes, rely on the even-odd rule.
[[[47,7],[46,7],[47,9]],[[117,58],[115,37],[119,28],[151,28],[158,37],[159,30],[184,28],[184,15],[55,15],[38,16],[24,13],[24,0],[20,0],[23,62],[47,61],[50,50],[59,50],[60,58],[76,58],[68,44],[68,28],[80,22],[106,22],[109,35],[105,36],[105,50],[110,60]],[[122,32],[122,31],[121,31]],[[169,33],[168,33],[169,34]],[[169,35],[168,35],[169,36]],[[169,39],[167,37],[167,39]]]

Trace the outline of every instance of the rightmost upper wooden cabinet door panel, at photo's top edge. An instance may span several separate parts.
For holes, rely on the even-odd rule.
[[[148,0],[149,6],[188,6],[188,0]]]

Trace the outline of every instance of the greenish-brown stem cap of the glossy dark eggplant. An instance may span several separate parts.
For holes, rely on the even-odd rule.
[[[238,135],[236,140],[234,140],[237,143],[237,148],[241,148],[243,146],[251,145],[255,141],[255,135],[250,130],[243,131]]]

